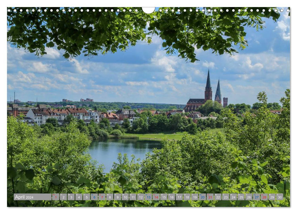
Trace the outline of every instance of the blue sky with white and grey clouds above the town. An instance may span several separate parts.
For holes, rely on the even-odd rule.
[[[228,103],[257,101],[265,91],[278,102],[290,88],[290,18],[282,12],[277,23],[265,19],[264,30],[246,28],[249,46],[234,56],[196,50],[200,61],[190,63],[166,55],[157,36],[152,44],[139,42],[127,51],[79,56],[65,60],[55,47],[36,57],[7,44],[7,100],[16,91],[21,101],[148,102],[186,104],[204,98],[208,67],[213,98],[220,78]]]

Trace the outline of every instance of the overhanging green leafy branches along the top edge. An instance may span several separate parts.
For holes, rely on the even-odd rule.
[[[162,12],[151,14],[142,12],[141,8],[65,7],[65,12],[58,7],[30,8],[29,12],[25,9],[20,12],[21,8],[7,9],[10,10],[7,12],[7,40],[37,56],[46,54],[46,47],[54,46],[64,50],[65,58],[81,53],[85,56],[114,53],[138,41],[151,43],[152,36],[159,35],[166,53],[178,53],[191,62],[198,60],[195,49],[233,54],[234,46],[238,45],[243,50],[247,46],[246,27],[263,29],[263,18],[277,21],[280,17],[273,8],[256,8],[258,12],[253,8],[251,12],[252,8],[220,11],[221,8],[212,7],[203,11],[192,8],[190,12],[189,8],[164,7]]]

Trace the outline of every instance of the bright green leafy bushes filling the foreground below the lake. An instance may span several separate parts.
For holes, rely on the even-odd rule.
[[[7,119],[8,206],[290,206],[290,91],[281,115],[263,103],[239,119],[232,109],[225,135],[198,131],[141,163],[119,154],[110,173],[91,160],[90,141],[71,121],[66,131],[39,137],[34,127]],[[13,201],[13,193],[283,193],[283,201]]]

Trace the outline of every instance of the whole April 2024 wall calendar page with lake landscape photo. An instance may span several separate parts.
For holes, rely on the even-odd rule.
[[[7,206],[290,207],[290,7],[7,7]]]

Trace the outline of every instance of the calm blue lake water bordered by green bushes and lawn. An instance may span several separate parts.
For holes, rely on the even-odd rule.
[[[94,140],[89,148],[89,153],[98,164],[104,164],[104,172],[109,172],[113,162],[117,162],[118,153],[126,153],[129,160],[131,155],[135,155],[135,159],[143,160],[145,154],[152,153],[153,149],[161,148],[161,142],[153,140],[139,140],[139,139],[106,139]]]

